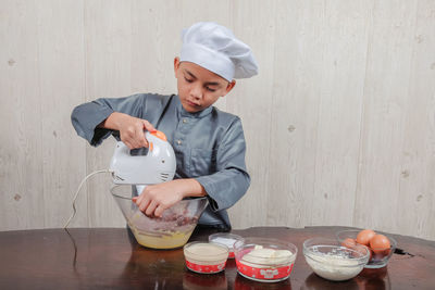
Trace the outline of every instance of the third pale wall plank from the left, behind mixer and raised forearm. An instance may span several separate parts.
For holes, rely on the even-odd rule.
[[[130,2],[85,1],[86,100],[128,96],[132,74]],[[104,31],[104,33],[102,33]],[[88,174],[109,168],[114,139],[99,148],[87,147]],[[97,175],[87,181],[88,225],[125,226],[110,194],[111,176]]]

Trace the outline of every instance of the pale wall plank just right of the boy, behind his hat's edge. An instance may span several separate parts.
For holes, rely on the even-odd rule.
[[[249,1],[236,1],[232,13],[234,33],[252,46],[260,67],[259,76],[240,79],[226,98],[226,110],[240,116],[247,142],[247,167],[251,175],[251,187],[248,193],[231,211],[231,217],[237,227],[266,225],[270,168],[270,135],[273,74],[273,49],[275,30],[275,3],[271,2],[265,11],[250,5]],[[263,36],[259,37],[256,25],[263,27]],[[244,33],[241,33],[244,30]],[[261,81],[257,81],[261,78]],[[257,79],[257,80],[256,80]],[[260,98],[252,98],[253,96]],[[256,156],[254,159],[249,156]],[[249,210],[248,210],[249,209]]]

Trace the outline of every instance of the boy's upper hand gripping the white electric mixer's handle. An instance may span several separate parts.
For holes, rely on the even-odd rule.
[[[113,112],[101,125],[104,128],[119,130],[121,140],[129,149],[148,147],[144,130],[156,130],[148,121],[119,112]]]

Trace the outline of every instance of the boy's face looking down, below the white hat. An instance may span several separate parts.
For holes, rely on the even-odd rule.
[[[227,94],[236,85],[191,62],[174,60],[175,77],[179,100],[189,113],[196,113],[212,105],[220,97]]]

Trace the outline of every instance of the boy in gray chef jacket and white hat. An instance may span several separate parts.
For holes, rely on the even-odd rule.
[[[183,30],[181,58],[174,59],[178,94],[134,94],[98,99],[72,113],[77,134],[91,146],[110,135],[128,148],[148,147],[144,130],[159,129],[174,148],[174,180],[147,186],[134,201],[147,215],[162,212],[187,197],[208,197],[199,225],[229,230],[226,209],[247,191],[240,119],[212,106],[236,85],[234,78],[257,74],[250,48],[215,23],[197,23]]]

